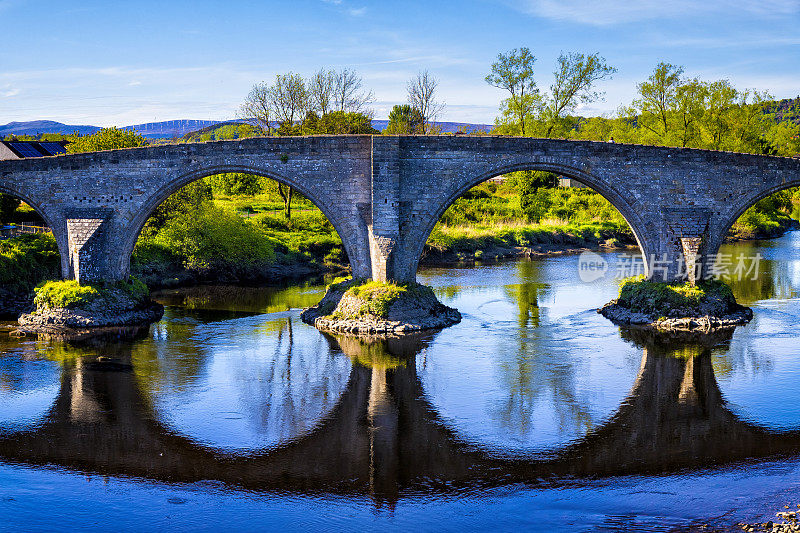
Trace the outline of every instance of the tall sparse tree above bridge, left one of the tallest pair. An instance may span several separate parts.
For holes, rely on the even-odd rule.
[[[511,95],[504,104],[516,118],[519,134],[525,135],[525,124],[539,103],[538,89],[533,80],[536,58],[528,48],[514,48],[508,54],[497,54],[486,83],[504,89]]]

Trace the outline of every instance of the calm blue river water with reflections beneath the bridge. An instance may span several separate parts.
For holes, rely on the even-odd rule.
[[[431,269],[463,321],[365,345],[324,287],[162,293],[133,338],[0,334],[0,529],[683,530],[800,501],[800,233],[705,345],[621,333],[576,256]],[[618,254],[604,256],[612,265]]]

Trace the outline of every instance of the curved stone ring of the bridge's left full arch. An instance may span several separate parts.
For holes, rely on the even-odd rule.
[[[280,182],[283,185],[288,185],[289,187],[292,187],[296,191],[300,192],[300,194],[308,198],[311,203],[313,203],[320,211],[322,211],[322,214],[325,215],[328,221],[330,221],[330,223],[333,225],[333,228],[342,239],[342,245],[347,253],[351,267],[353,266],[353,260],[358,257],[358,252],[356,249],[356,244],[352,242],[351,238],[349,238],[348,232],[343,231],[343,221],[339,218],[337,213],[330,209],[330,206],[322,201],[322,198],[320,198],[315,191],[304,185],[302,181],[289,179],[276,172],[263,168],[242,165],[214,165],[209,168],[203,168],[181,174],[148,196],[147,201],[143,204],[142,208],[138,210],[136,217],[131,222],[131,231],[124,235],[121,253],[116,257],[118,264],[113,268],[115,270],[121,270],[124,268],[124,265],[127,265],[131,255],[133,254],[133,249],[136,246],[136,241],[139,238],[139,234],[142,232],[142,228],[144,228],[147,219],[150,218],[150,215],[153,214],[153,211],[155,211],[159,205],[164,203],[167,198],[172,196],[182,187],[192,182],[208,176],[224,173],[241,173],[261,176]]]

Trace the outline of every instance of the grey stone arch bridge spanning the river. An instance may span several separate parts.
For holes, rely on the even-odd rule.
[[[555,172],[608,199],[649,273],[679,279],[753,203],[800,185],[800,159],[524,137],[267,137],[0,161],[0,192],[53,229],[65,278],[120,279],[153,210],[182,186],[245,172],[294,187],[342,238],[355,277],[415,279],[425,241],[471,187]],[[702,268],[702,261],[698,263]]]

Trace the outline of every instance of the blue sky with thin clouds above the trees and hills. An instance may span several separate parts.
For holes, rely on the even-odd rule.
[[[0,124],[230,119],[254,83],[320,67],[356,69],[376,118],[428,69],[441,119],[492,122],[504,94],[483,79],[519,46],[537,57],[543,89],[561,51],[599,52],[618,69],[584,115],[629,103],[662,60],[800,94],[800,0],[0,0],[0,35]]]

